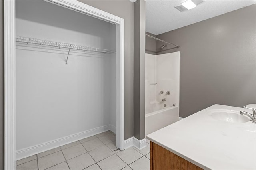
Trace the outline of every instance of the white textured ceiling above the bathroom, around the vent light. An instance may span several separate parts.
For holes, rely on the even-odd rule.
[[[184,1],[146,0],[146,32],[162,34],[256,3],[256,0],[204,0],[191,10],[180,12],[174,8]]]

